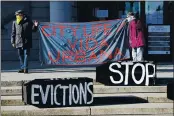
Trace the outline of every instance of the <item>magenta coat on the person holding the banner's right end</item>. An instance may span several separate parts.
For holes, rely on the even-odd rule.
[[[145,45],[143,27],[140,20],[129,22],[129,43],[131,48],[137,48]]]

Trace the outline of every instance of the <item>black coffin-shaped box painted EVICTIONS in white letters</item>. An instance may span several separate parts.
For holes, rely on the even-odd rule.
[[[93,103],[89,78],[36,79],[23,84],[23,101],[36,107],[88,106]]]

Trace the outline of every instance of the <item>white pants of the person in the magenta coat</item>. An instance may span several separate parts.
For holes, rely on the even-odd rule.
[[[138,48],[132,48],[132,58],[134,62],[139,62],[143,61],[143,52],[144,48],[143,47],[138,47]]]

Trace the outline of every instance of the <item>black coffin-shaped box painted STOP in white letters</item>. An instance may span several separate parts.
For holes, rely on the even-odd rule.
[[[154,85],[156,66],[152,62],[112,62],[96,68],[96,81],[105,85]]]

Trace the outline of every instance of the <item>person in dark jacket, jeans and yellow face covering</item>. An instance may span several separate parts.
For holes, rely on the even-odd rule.
[[[15,12],[16,20],[12,23],[11,44],[17,48],[20,60],[18,73],[28,73],[28,56],[32,48],[32,32],[37,31],[38,22],[34,23],[24,11]]]

